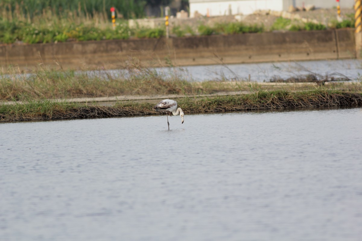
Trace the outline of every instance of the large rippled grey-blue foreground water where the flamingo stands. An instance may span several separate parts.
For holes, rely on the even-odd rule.
[[[362,108],[0,124],[0,237],[360,240]]]

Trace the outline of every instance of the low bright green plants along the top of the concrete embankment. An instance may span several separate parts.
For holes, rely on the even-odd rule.
[[[94,13],[93,18],[81,18],[71,15],[66,18],[54,16],[35,18],[33,20],[19,20],[0,18],[0,43],[53,43],[70,40],[110,40],[135,38],[162,38],[165,36],[165,26],[157,28],[136,27],[130,28],[125,20],[116,21],[115,30],[103,13]],[[332,22],[333,28],[354,27],[354,20],[346,19],[342,22]],[[271,30],[324,30],[320,23],[302,23],[285,18],[277,18]],[[264,32],[264,26],[245,25],[243,22],[223,22],[214,26],[198,25],[199,35],[212,34],[243,34]],[[177,37],[186,34],[195,35],[191,26],[173,26],[171,33]]]

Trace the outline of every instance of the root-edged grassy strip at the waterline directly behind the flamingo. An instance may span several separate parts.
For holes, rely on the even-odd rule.
[[[196,96],[195,96],[196,97]],[[185,113],[244,111],[253,109],[302,108],[362,105],[362,93],[336,90],[257,91],[246,95],[182,98]],[[67,102],[30,101],[25,104],[0,105],[0,121],[50,120],[68,118],[152,115],[150,103],[117,102],[114,106],[87,106]]]

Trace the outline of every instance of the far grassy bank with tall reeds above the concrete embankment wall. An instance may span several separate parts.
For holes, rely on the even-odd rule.
[[[162,38],[165,36],[164,24],[150,28],[147,25],[130,27],[127,19],[140,18],[144,12],[143,1],[103,1],[101,3],[80,3],[55,1],[50,6],[46,1],[8,4],[0,3],[0,43],[53,43],[66,41],[110,40],[129,38]],[[111,27],[110,11],[106,6],[117,9],[115,30]],[[211,19],[211,18],[210,18]],[[186,35],[242,34],[265,31],[324,30],[325,23],[303,22],[279,17],[270,26],[263,22],[248,23],[228,19],[224,21],[178,22],[171,21],[172,37]],[[150,20],[152,21],[152,20]],[[163,21],[162,21],[163,22]],[[156,24],[157,25],[157,24]],[[353,14],[344,16],[342,22],[331,21],[331,28],[354,27]]]

